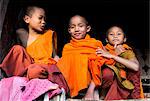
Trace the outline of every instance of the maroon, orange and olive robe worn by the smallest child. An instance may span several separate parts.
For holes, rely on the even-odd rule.
[[[121,53],[119,56],[126,58],[126,59],[131,59],[135,57],[135,54],[133,53],[132,49],[124,44],[123,47],[126,49],[125,52]],[[115,54],[115,49],[113,46],[110,44],[106,45],[106,49],[111,53]],[[114,72],[114,70],[110,67],[106,67],[105,69],[102,70],[102,75],[103,75],[103,84],[102,84],[102,89],[108,88],[109,90],[105,96],[105,100],[121,100],[121,99],[138,99],[138,98],[143,98],[143,93],[142,93],[142,88],[141,88],[141,81],[140,81],[140,71],[133,71],[130,69],[127,69],[124,65],[120,63],[115,63],[114,65],[117,67],[120,71],[118,76],[122,79],[127,79],[129,80],[133,85],[133,89],[128,89],[123,87],[119,82],[117,76],[117,73]],[[121,75],[121,70],[124,72],[124,76]],[[116,77],[116,78],[115,78]],[[119,81],[119,82],[118,82]],[[128,86],[130,87],[130,86]]]

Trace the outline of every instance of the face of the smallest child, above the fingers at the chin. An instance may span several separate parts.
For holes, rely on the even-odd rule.
[[[119,27],[112,27],[108,31],[108,42],[112,45],[120,45],[125,41],[124,32]]]

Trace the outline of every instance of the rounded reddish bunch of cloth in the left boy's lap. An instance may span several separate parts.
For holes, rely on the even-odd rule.
[[[48,78],[48,72],[45,68],[43,68],[39,64],[31,64],[28,66],[27,76],[29,79],[34,78],[46,79]]]

